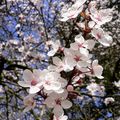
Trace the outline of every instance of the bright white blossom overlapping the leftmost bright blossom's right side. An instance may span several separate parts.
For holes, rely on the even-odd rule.
[[[55,71],[44,70],[41,79],[41,84],[47,93],[52,91],[57,93],[63,92],[64,87],[67,85],[67,81],[60,76],[60,73]]]

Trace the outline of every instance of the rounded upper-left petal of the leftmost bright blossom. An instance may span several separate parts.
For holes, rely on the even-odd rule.
[[[34,79],[33,73],[30,70],[26,69],[23,72],[23,79],[25,81],[32,81]]]

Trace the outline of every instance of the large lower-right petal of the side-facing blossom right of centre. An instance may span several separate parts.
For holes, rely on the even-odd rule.
[[[94,74],[95,74],[96,77],[98,77],[99,79],[104,78],[103,76],[101,76],[102,72],[103,72],[103,67],[102,66],[100,66],[100,65],[94,66],[93,70],[94,70]]]

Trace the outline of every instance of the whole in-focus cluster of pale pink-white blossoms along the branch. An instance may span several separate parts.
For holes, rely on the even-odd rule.
[[[63,109],[72,107],[70,95],[76,93],[74,86],[79,87],[80,81],[83,81],[86,76],[90,79],[92,77],[104,78],[103,67],[98,64],[97,59],[93,59],[90,52],[96,43],[101,43],[106,47],[111,45],[112,37],[101,28],[101,25],[112,19],[112,10],[97,10],[95,1],[90,2],[85,10],[85,2],[87,0],[76,0],[72,6],[64,6],[60,21],[76,19],[78,15],[81,15],[85,23],[81,23],[79,27],[82,27],[83,33],[89,30],[87,34],[90,39],[80,33],[69,48],[62,46],[59,40],[47,42],[47,45],[51,46],[48,56],[52,57],[52,64],[44,70],[34,69],[33,72],[25,70],[24,81],[18,82],[20,86],[29,88],[30,95],[24,99],[26,106],[24,111],[34,108],[34,96],[41,95],[44,98],[44,104],[53,109],[54,120],[67,120],[68,117],[64,115]],[[57,57],[58,51],[61,51],[64,57]],[[67,73],[71,73],[68,78],[65,76]],[[89,84],[87,89],[91,95],[96,95],[96,91],[99,91],[100,95],[104,96],[104,87],[96,83]]]

